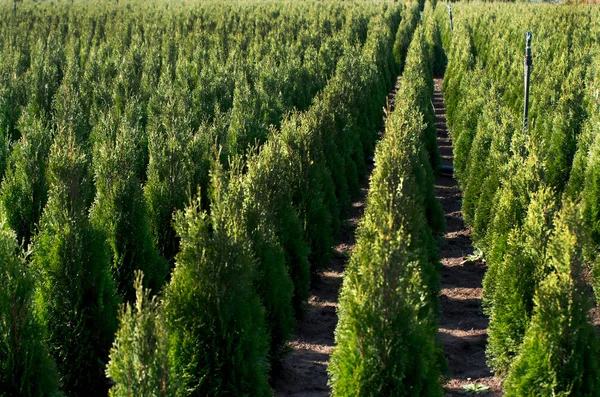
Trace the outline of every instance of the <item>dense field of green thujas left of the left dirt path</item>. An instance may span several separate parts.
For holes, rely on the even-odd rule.
[[[3,7],[0,390],[269,395],[416,7]]]

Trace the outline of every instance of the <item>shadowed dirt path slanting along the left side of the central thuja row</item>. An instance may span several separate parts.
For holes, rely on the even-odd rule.
[[[393,110],[396,87],[388,95],[387,109]],[[383,130],[379,136],[383,135]],[[368,175],[373,171],[373,159],[367,164]],[[313,281],[305,318],[298,322],[296,336],[290,342],[291,352],[275,375],[275,397],[325,397],[331,390],[327,385],[327,363],[333,351],[337,325],[337,306],[346,262],[354,250],[355,231],[362,218],[369,191],[369,178],[361,183],[360,196],[352,203],[348,218],[342,222],[340,240],[334,247],[331,266]]]

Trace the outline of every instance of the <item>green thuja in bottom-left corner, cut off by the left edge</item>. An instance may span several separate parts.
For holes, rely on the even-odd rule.
[[[33,275],[19,250],[15,233],[0,220],[0,396],[53,395],[58,373],[32,310]]]

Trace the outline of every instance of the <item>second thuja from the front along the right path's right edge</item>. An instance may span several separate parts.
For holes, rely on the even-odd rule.
[[[486,350],[488,363],[497,372],[508,371],[531,322],[533,297],[548,274],[546,246],[557,204],[549,189],[533,193],[522,228],[508,236],[504,259],[496,270]]]

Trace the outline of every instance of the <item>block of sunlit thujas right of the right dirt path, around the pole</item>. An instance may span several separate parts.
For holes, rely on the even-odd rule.
[[[488,269],[488,363],[507,396],[599,393],[588,319],[600,286],[600,14],[588,6],[437,9],[463,214]],[[525,32],[533,32],[528,128]],[[591,277],[589,277],[591,275]]]

